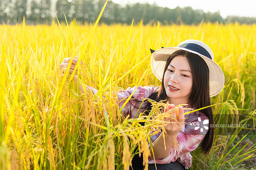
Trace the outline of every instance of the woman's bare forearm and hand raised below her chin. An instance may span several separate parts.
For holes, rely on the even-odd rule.
[[[168,104],[167,107],[164,108],[164,113],[166,113],[168,110],[174,108],[174,104]],[[176,112],[172,113],[172,117],[176,118]],[[150,149],[150,156],[149,159],[164,159],[167,156],[170,155],[171,149],[172,149],[172,144],[174,143],[175,139],[177,138],[177,135],[179,131],[183,127],[183,121],[184,121],[184,115],[183,115],[183,107],[179,107],[179,119],[178,122],[175,119],[170,119],[167,117],[164,117],[163,121],[170,122],[167,125],[164,126],[164,129],[166,133],[164,134],[165,138],[165,146],[164,146],[164,138],[163,138],[163,133],[159,137],[156,138],[156,140],[152,144],[152,148]],[[152,152],[152,149],[154,151],[154,155]]]

